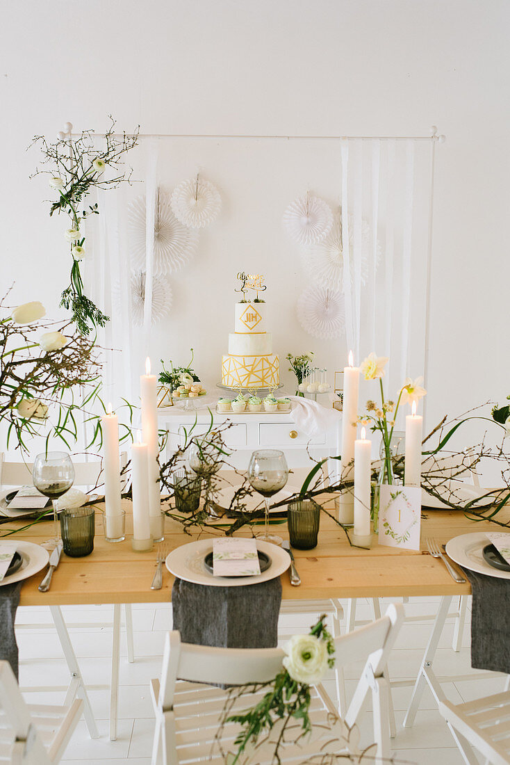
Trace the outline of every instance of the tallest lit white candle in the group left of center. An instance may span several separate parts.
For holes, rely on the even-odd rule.
[[[151,360],[145,362],[146,374],[140,378],[141,436],[147,444],[148,457],[148,506],[151,517],[151,535],[155,542],[163,539],[161,492],[158,467],[158,405],[156,401],[157,379],[151,375]]]

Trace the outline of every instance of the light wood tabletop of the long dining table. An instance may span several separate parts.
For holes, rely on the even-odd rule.
[[[99,506],[100,508],[101,506]],[[102,512],[96,513],[94,550],[85,558],[62,555],[54,573],[50,590],[37,590],[44,571],[26,580],[21,588],[20,604],[24,606],[102,603],[158,603],[171,600],[173,576],[164,568],[163,588],[151,590],[156,566],[157,546],[152,552],[133,552],[131,545],[132,516],[130,503],[125,503],[126,539],[124,542],[105,542]],[[491,522],[473,522],[459,511],[425,510],[421,522],[422,547],[431,536],[439,543],[453,536],[469,532],[498,530]],[[501,519],[508,519],[510,511],[502,511]],[[5,523],[5,532],[18,524]],[[258,527],[260,528],[260,527]],[[274,527],[287,537],[285,524]],[[42,522],[19,534],[8,537],[41,543],[53,532],[53,522]],[[223,532],[222,532],[223,533]],[[242,535],[249,535],[246,530]],[[177,521],[166,519],[165,542],[168,549],[206,539],[209,533],[187,535]],[[421,552],[395,550],[376,543],[372,549],[351,547],[343,529],[332,519],[321,515],[319,543],[313,550],[295,550],[297,569],[302,584],[291,587],[287,574],[282,576],[284,598],[329,597],[385,597],[469,594],[469,583],[456,584],[443,562]]]

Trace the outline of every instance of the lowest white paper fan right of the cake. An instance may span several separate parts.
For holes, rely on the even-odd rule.
[[[297,300],[297,318],[312,337],[329,340],[345,332],[346,312],[341,292],[313,285]]]

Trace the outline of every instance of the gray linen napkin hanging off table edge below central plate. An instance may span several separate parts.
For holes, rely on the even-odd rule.
[[[280,577],[240,587],[176,579],[172,588],[174,630],[198,646],[274,648],[280,604]]]

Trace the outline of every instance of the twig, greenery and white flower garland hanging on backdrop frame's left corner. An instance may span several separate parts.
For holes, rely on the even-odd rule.
[[[139,127],[132,135],[119,137],[114,132],[115,120],[104,136],[102,148],[97,148],[93,130],[84,130],[78,138],[71,138],[73,125],[67,123],[67,133],[60,132],[58,140],[50,143],[44,135],[34,136],[31,145],[41,148],[41,165],[31,176],[48,173],[50,188],[58,195],[50,203],[50,216],[66,213],[70,226],[63,232],[70,246],[70,285],[64,289],[60,305],[70,308],[71,322],[82,334],[89,334],[93,327],[104,327],[109,317],[85,295],[80,262],[85,256],[84,223],[87,217],[99,215],[98,203],[85,203],[94,189],[111,189],[122,181],[131,181],[132,168],[123,168],[123,156],[138,142]]]

